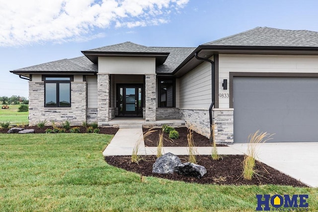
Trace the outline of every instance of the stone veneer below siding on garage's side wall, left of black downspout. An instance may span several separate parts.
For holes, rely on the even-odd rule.
[[[179,114],[187,127],[192,127],[195,132],[210,138],[209,109],[179,108]]]

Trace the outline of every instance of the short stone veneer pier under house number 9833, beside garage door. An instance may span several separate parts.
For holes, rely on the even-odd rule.
[[[213,109],[215,128],[215,140],[217,143],[234,142],[234,110],[230,109]]]

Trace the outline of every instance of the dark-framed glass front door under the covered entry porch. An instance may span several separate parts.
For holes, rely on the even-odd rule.
[[[119,116],[142,116],[143,86],[118,85],[117,107]]]

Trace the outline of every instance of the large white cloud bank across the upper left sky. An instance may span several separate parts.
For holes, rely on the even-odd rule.
[[[96,29],[158,25],[168,22],[170,12],[187,3],[188,0],[0,0],[0,46],[86,40],[96,37]]]

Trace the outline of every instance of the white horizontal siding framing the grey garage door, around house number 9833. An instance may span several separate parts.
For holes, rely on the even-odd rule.
[[[229,93],[230,72],[318,73],[318,56],[219,55],[219,93]],[[223,79],[228,79],[228,90],[223,90]],[[229,98],[219,98],[219,108],[229,107]]]

